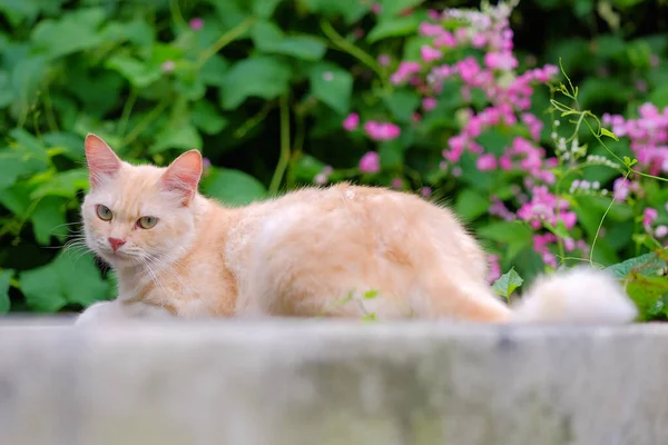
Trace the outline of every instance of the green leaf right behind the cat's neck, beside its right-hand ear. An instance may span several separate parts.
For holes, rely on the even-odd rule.
[[[267,196],[261,181],[240,170],[210,168],[202,189],[228,206],[243,206]]]

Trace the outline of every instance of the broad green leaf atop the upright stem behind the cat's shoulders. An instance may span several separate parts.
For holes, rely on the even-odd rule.
[[[222,88],[223,108],[238,107],[249,97],[275,99],[289,90],[292,71],[277,57],[255,56],[235,63]]]

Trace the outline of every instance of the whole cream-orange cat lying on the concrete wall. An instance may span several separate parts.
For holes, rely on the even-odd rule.
[[[85,150],[86,244],[114,268],[118,297],[76,324],[370,314],[622,324],[638,314],[620,285],[591,267],[541,276],[508,305],[487,283],[474,237],[448,208],[415,195],[337,184],[228,208],[198,192],[197,150],[167,168],[127,164],[95,135]]]

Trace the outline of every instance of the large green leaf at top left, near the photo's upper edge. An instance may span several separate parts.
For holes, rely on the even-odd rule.
[[[105,16],[102,8],[86,8],[42,20],[32,31],[32,42],[50,58],[95,48],[102,42],[97,30]]]

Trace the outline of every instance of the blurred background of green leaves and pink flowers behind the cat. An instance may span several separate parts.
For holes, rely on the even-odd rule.
[[[664,319],[662,257],[632,267],[668,236],[664,182],[639,175],[668,169],[667,3],[0,0],[0,313],[115,296],[63,249],[94,132],[132,162],[200,149],[202,191],[230,206],[341,180],[450,205],[490,283],[519,274],[504,297],[636,258],[616,271]]]

